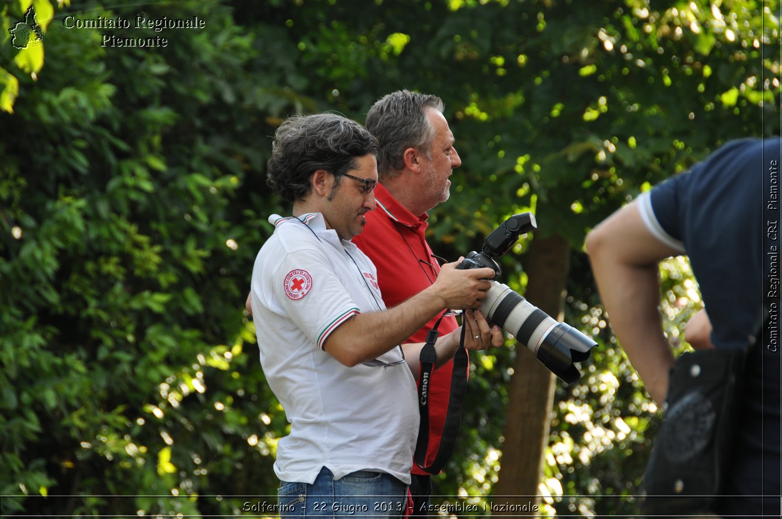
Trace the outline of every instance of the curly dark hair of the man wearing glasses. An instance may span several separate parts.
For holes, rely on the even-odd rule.
[[[292,116],[274,134],[267,183],[285,202],[302,201],[315,171],[333,174],[336,188],[356,159],[370,153],[377,155],[377,139],[356,121],[335,113]]]

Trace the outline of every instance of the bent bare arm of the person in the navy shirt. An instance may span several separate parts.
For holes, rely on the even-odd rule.
[[[665,401],[673,352],[658,311],[658,261],[679,252],[647,231],[637,202],[587,235],[597,289],[611,326],[655,401]]]

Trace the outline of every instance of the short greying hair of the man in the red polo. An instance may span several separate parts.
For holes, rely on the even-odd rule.
[[[408,148],[421,150],[432,158],[435,129],[426,116],[429,108],[443,111],[443,100],[436,95],[399,90],[378,99],[367,113],[367,129],[378,139],[378,174],[396,177],[404,167]]]

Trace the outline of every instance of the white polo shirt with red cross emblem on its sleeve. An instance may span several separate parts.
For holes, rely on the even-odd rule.
[[[291,424],[274,472],[312,484],[321,467],[337,479],[369,470],[409,485],[418,406],[407,364],[346,367],[323,350],[351,316],[385,310],[375,266],[320,213],[269,221],[251,294],[261,367]],[[378,360],[401,358],[395,348]]]

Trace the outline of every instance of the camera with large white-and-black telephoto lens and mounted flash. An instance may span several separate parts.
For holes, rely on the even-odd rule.
[[[456,268],[489,267],[499,276],[500,266],[494,258],[508,252],[521,234],[536,228],[533,213],[515,214],[486,236],[481,252],[470,252]],[[480,310],[487,320],[514,335],[545,367],[568,384],[581,376],[573,363],[587,360],[590,349],[597,345],[587,335],[569,324],[558,323],[508,285],[497,281],[491,281],[489,294]]]

